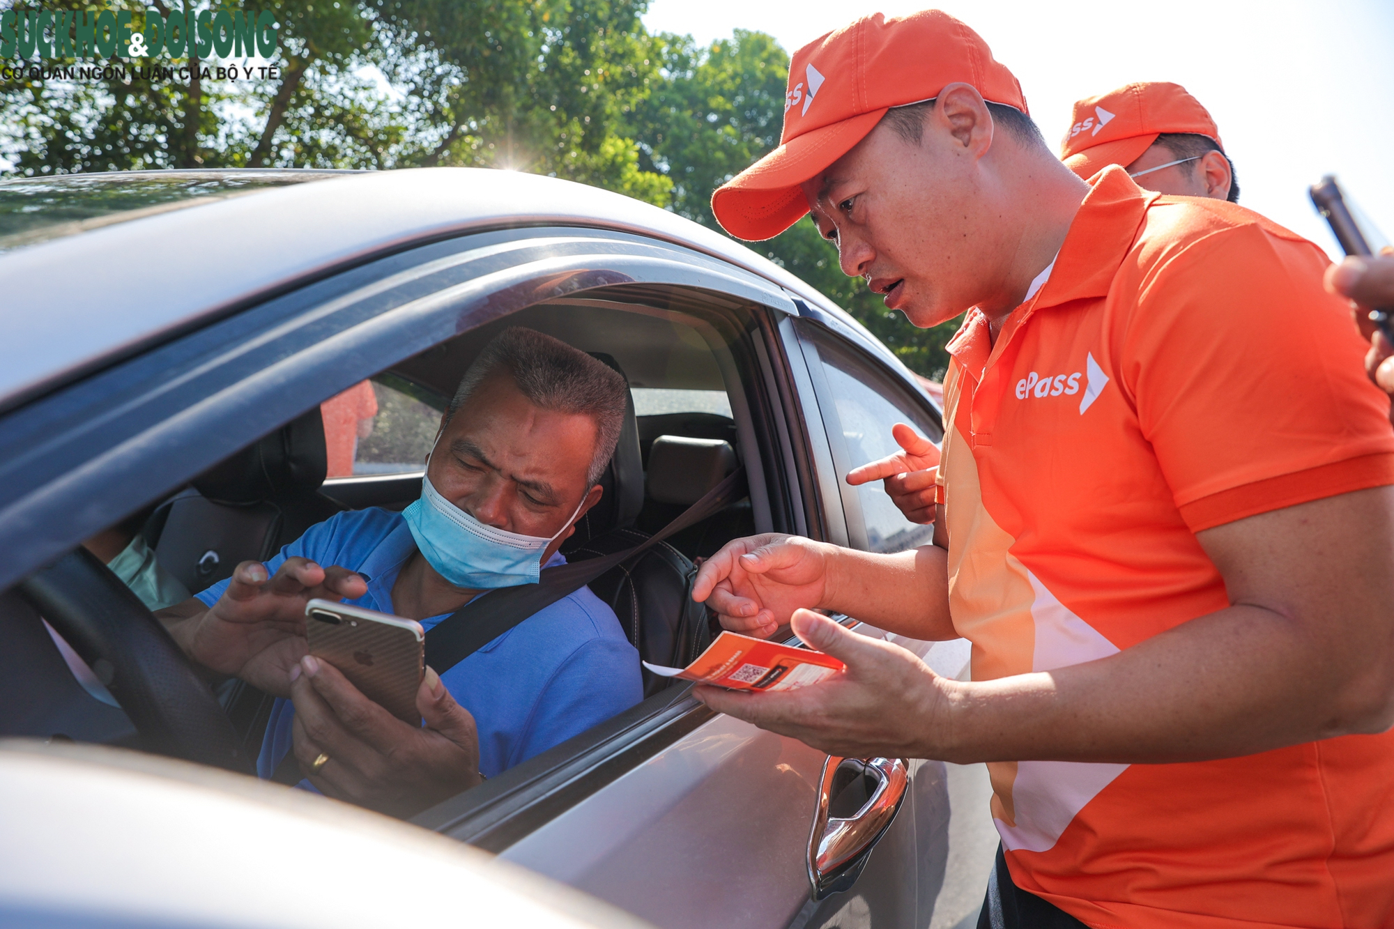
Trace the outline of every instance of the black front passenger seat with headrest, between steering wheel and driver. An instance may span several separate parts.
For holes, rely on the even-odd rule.
[[[145,541],[198,593],[230,577],[238,562],[266,561],[344,509],[319,492],[326,469],[316,406],[195,477],[155,511]]]

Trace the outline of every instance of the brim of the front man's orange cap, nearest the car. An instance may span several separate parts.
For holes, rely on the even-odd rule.
[[[809,212],[800,184],[864,139],[887,110],[859,113],[796,135],[717,188],[711,212],[736,239],[774,239]]]

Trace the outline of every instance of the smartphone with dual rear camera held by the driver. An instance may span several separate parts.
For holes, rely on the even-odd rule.
[[[332,600],[305,604],[309,654],[339,668],[395,717],[421,725],[417,690],[425,674],[425,630],[415,619]]]

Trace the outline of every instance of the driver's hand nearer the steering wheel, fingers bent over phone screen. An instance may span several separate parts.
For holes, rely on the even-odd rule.
[[[296,557],[268,579],[265,565],[244,561],[217,603],[176,622],[170,633],[205,668],[275,696],[290,696],[291,668],[307,651],[305,604],[315,597],[355,600],[365,593],[367,582],[347,568],[321,568]]]

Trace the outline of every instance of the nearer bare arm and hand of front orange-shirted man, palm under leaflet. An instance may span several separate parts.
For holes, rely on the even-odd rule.
[[[907,651],[800,611],[795,632],[846,672],[792,692],[697,693],[714,710],[838,755],[960,764],[1204,762],[1394,725],[1394,487],[1246,516],[1196,540],[1231,605],[1108,657],[947,681]],[[913,593],[909,575],[861,583],[887,558],[839,559],[838,597]],[[938,576],[942,565],[924,561],[916,573]],[[882,604],[887,617],[892,605]]]

